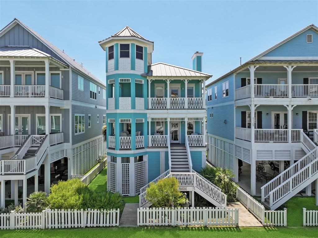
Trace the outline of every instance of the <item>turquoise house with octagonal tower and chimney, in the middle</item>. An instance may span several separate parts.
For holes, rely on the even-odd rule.
[[[202,88],[211,75],[201,72],[203,53],[193,55],[192,70],[153,64],[154,43],[128,26],[99,44],[106,52],[108,189],[135,196],[162,174],[204,167]]]

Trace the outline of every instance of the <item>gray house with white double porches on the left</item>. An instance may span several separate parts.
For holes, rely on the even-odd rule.
[[[106,86],[14,19],[0,31],[0,183],[5,199],[85,174],[105,154]],[[18,196],[19,194],[19,196]]]

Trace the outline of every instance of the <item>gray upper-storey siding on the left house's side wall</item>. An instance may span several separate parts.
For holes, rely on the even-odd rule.
[[[84,78],[84,91],[79,90],[79,88],[78,88],[78,76],[81,76]],[[90,96],[89,95],[90,82],[95,84],[97,87],[96,100],[91,99],[89,97]],[[98,94],[98,87],[100,87],[100,94]],[[105,87],[103,88],[102,86],[96,84],[96,82],[89,80],[83,74],[79,74],[78,72],[75,72],[72,70],[72,100],[84,102],[84,103],[88,103],[88,104],[93,104],[93,105],[106,106],[106,99],[103,98],[103,90],[102,89],[105,89]],[[105,114],[105,113],[106,112],[104,112],[103,114]]]

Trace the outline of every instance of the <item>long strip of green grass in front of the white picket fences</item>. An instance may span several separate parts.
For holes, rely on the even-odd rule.
[[[80,228],[80,229],[46,229],[46,230],[2,230],[2,238],[34,237],[129,237],[129,238],[182,238],[182,237],[226,237],[226,238],[316,238],[318,228]]]

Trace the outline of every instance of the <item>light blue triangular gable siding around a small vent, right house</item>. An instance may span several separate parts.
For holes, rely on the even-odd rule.
[[[313,42],[307,43],[307,34],[313,35]],[[268,52],[263,57],[317,57],[318,56],[318,34],[309,29],[300,35],[285,42],[276,49]]]

